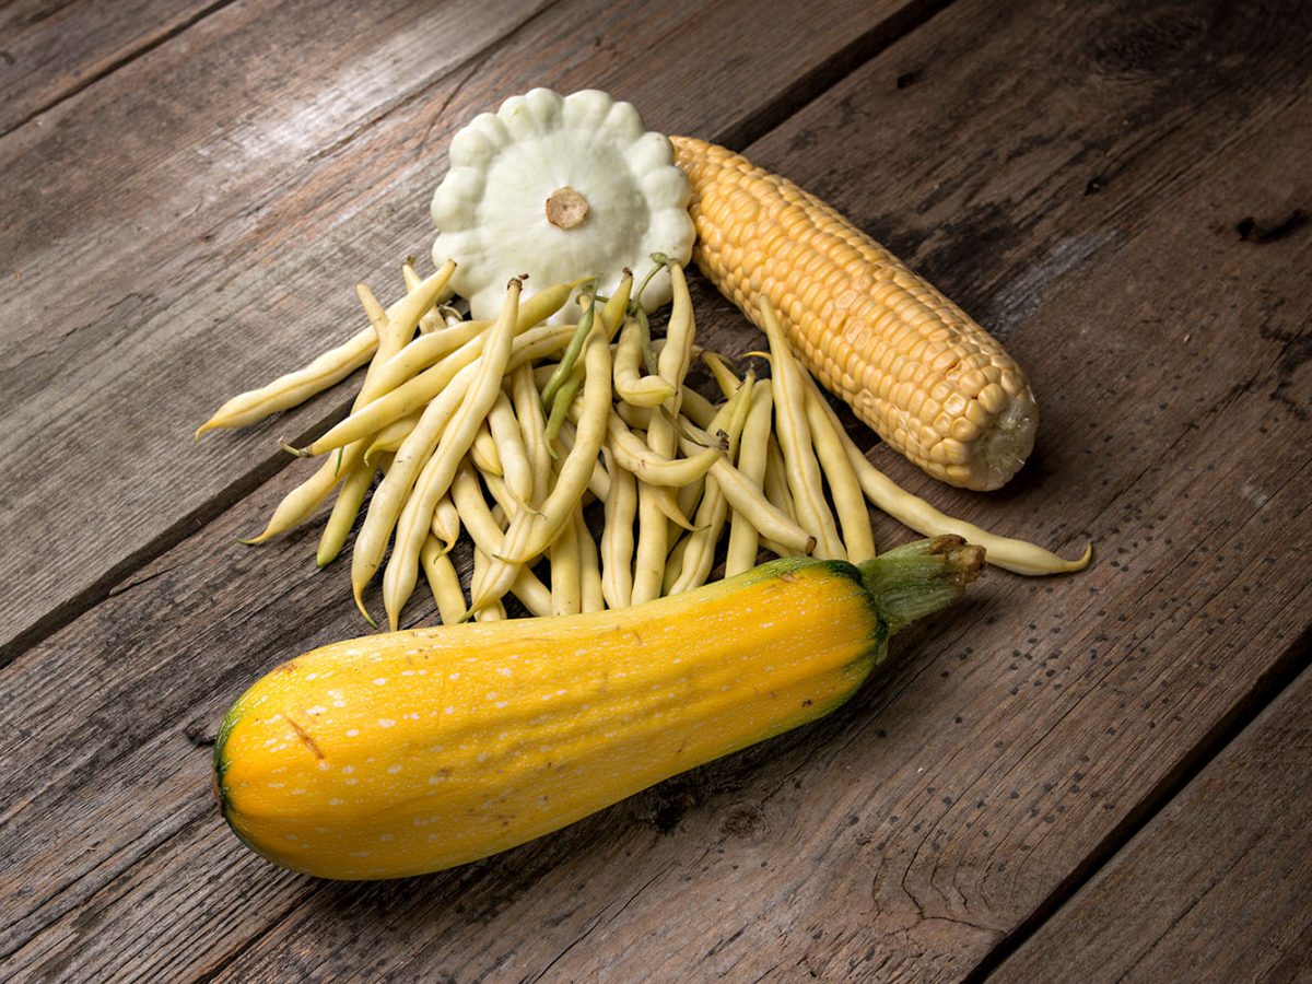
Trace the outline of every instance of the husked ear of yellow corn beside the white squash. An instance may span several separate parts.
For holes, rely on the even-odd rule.
[[[1015,474],[1038,408],[996,338],[815,195],[672,140],[693,185],[693,256],[726,297],[758,325],[769,298],[807,367],[934,478],[992,489]]]

